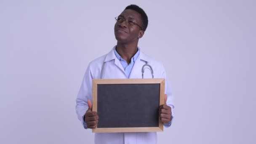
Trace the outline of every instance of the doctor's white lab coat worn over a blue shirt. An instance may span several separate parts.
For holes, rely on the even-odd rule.
[[[90,99],[92,101],[92,80],[99,79],[101,77],[103,63],[105,64],[102,79],[128,78],[125,75],[125,71],[119,59],[115,56],[114,48],[108,54],[91,61],[83,77],[83,82],[76,99],[76,112],[77,117],[82,122],[84,128],[87,128],[87,125],[83,122],[83,116],[88,109],[87,100]],[[168,83],[163,64],[159,61],[155,61],[140,51],[129,78],[142,78],[141,68],[146,61],[154,71],[154,78],[165,78],[165,94],[168,96],[167,104],[172,108],[173,116],[173,96],[171,94],[170,85]],[[152,78],[149,68],[144,70],[144,78]],[[169,127],[170,125],[171,123],[169,125],[165,125],[165,127]],[[157,133],[95,133],[94,140],[95,144],[156,144]]]

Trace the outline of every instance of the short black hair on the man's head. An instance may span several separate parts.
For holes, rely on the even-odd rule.
[[[140,8],[138,5],[128,5],[125,8],[125,10],[127,10],[127,9],[134,10],[134,11],[136,11],[136,12],[141,14],[141,20],[142,20],[142,24],[143,24],[142,30],[146,31],[147,24],[148,24],[148,19],[147,19],[147,14],[145,13],[145,11],[142,8]]]

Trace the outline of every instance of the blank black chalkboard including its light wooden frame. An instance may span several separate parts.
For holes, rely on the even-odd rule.
[[[163,131],[158,109],[164,103],[164,79],[95,79],[93,132]]]

